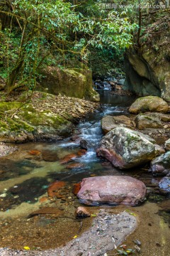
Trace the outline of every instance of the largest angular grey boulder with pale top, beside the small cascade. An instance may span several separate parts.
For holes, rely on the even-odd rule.
[[[117,127],[108,132],[101,140],[101,147],[96,150],[113,166],[129,169],[152,160],[159,151],[151,137],[125,127]]]

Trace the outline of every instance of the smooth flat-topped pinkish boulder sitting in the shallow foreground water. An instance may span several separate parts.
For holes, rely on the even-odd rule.
[[[145,199],[146,186],[130,176],[96,176],[84,178],[77,197],[87,205],[100,203],[137,206]]]

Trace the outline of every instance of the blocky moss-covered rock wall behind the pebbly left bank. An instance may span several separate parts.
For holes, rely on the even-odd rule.
[[[92,87],[91,71],[83,66],[82,68],[56,68],[47,67],[41,71],[40,90],[54,95],[66,95],[68,97],[85,98],[98,102],[100,97]]]

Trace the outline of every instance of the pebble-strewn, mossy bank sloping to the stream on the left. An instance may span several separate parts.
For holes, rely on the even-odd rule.
[[[1,98],[0,142],[52,142],[72,134],[75,124],[99,104],[45,92]]]

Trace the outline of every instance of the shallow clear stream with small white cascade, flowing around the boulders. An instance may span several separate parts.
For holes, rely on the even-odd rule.
[[[72,219],[49,218],[48,215],[27,218],[28,214],[52,206],[64,215],[74,216],[75,208],[81,206],[72,193],[74,183],[89,176],[128,175],[140,179],[147,186],[147,200],[142,206],[91,206],[89,210],[95,213],[103,207],[114,213],[129,211],[137,216],[139,226],[125,241],[128,247],[134,247],[132,241],[138,239],[142,243],[140,255],[170,255],[169,210],[161,210],[159,206],[169,203],[169,196],[159,193],[157,184],[160,178],[154,178],[147,172],[147,164],[121,171],[96,156],[96,148],[103,137],[101,118],[107,114],[128,114],[128,106],[135,97],[111,95],[109,90],[102,90],[100,94],[100,110],[81,120],[73,137],[55,143],[19,144],[17,152],[1,159],[0,248],[20,250],[29,246],[43,250],[63,245],[77,234],[79,223]],[[84,155],[78,155],[80,139],[87,145]],[[62,159],[70,154],[74,156],[72,160],[63,164]],[[48,200],[47,188],[54,181],[64,181],[65,185],[57,198]],[[90,225],[91,218],[84,220],[81,232]]]

